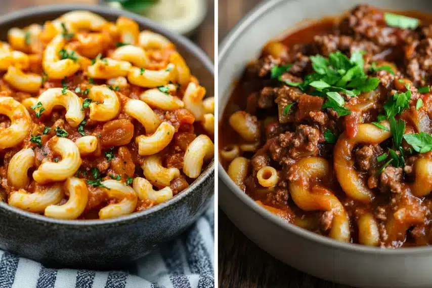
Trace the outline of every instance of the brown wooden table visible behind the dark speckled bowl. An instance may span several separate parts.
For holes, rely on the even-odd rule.
[[[198,44],[214,61],[214,0],[208,1],[207,15],[197,29],[196,33],[191,37],[193,42]],[[40,6],[48,4],[98,4],[98,0],[65,0],[63,2],[58,0],[0,0],[2,4],[0,14],[6,14],[30,6]]]

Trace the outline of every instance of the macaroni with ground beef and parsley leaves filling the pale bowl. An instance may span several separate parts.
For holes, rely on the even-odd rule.
[[[432,25],[359,5],[272,40],[221,119],[231,179],[343,242],[432,243]]]

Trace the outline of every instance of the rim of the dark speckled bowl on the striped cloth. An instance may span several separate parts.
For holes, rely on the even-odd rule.
[[[66,13],[73,10],[88,10],[91,12],[94,12],[96,14],[105,14],[110,16],[126,16],[128,18],[134,19],[138,24],[143,25],[147,27],[148,29],[151,29],[152,31],[155,31],[157,33],[160,33],[164,36],[166,36],[170,40],[174,40],[174,42],[179,43],[183,48],[187,51],[189,51],[191,54],[195,55],[199,62],[207,69],[211,75],[214,77],[214,65],[213,62],[210,60],[210,58],[207,56],[207,54],[198,46],[196,46],[194,43],[191,42],[188,38],[176,34],[174,32],[171,32],[167,30],[166,28],[162,27],[160,24],[157,24],[156,22],[145,18],[141,15],[126,11],[126,10],[119,10],[110,8],[107,6],[101,6],[101,5],[85,5],[85,4],[54,4],[54,5],[42,5],[42,6],[36,6],[36,7],[29,7],[25,9],[20,9],[14,12],[11,12],[7,15],[3,15],[0,17],[0,26],[5,25],[11,21],[17,21],[20,19],[26,19],[26,18],[35,18],[40,17],[44,15],[51,15],[55,13]],[[214,83],[214,81],[213,81]],[[183,198],[188,197],[189,194],[192,194],[192,192],[195,192],[195,190],[199,186],[203,184],[204,181],[206,181],[209,177],[214,177],[214,158],[208,163],[207,168],[204,170],[204,172],[201,173],[201,175],[196,178],[191,185],[189,185],[188,188],[186,188],[182,193],[179,193],[175,197],[172,197],[171,199],[162,202],[160,204],[157,204],[149,209],[146,209],[144,211],[135,212],[128,215],[123,215],[116,218],[109,218],[109,219],[89,219],[89,220],[64,220],[64,219],[55,219],[55,218],[49,218],[44,215],[39,215],[36,213],[28,212],[25,210],[18,209],[16,207],[13,207],[3,201],[0,201],[0,209],[6,210],[11,213],[18,214],[21,217],[30,218],[32,220],[35,220],[36,222],[44,222],[44,223],[51,223],[56,225],[63,225],[63,226],[70,226],[70,227],[87,227],[87,226],[104,226],[107,224],[119,224],[119,222],[127,222],[127,221],[136,221],[140,220],[140,218],[145,218],[148,216],[155,215],[156,212],[162,212],[164,210],[167,210],[171,207],[174,207],[176,203],[181,201]]]

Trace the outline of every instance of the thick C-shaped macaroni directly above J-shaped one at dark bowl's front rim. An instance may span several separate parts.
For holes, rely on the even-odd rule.
[[[33,172],[33,179],[37,183],[45,184],[53,181],[63,181],[71,177],[81,166],[81,156],[78,147],[72,140],[54,136],[50,141],[51,149],[62,156],[58,162],[43,162]]]

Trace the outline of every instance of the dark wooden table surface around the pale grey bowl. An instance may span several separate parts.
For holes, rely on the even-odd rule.
[[[260,0],[219,0],[219,42],[258,3]],[[246,238],[220,209],[218,247],[221,288],[349,288],[312,277],[274,259]]]

